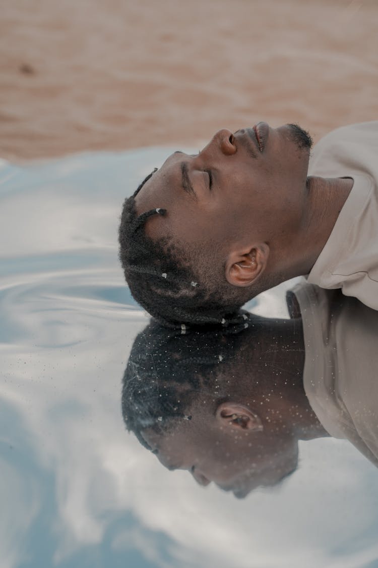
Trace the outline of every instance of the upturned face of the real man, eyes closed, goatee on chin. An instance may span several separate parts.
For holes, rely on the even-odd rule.
[[[175,152],[136,197],[151,237],[181,244],[248,244],[284,240],[300,227],[307,199],[311,139],[299,127],[266,123],[232,134],[220,130],[198,154]]]

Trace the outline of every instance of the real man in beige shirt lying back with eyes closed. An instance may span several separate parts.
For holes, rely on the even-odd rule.
[[[126,199],[120,258],[134,298],[168,325],[227,322],[298,275],[378,309],[378,122],[317,145],[288,124],[221,130],[175,152]]]

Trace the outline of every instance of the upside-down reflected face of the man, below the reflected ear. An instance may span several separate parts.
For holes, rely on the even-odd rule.
[[[194,410],[192,420],[177,420],[168,433],[146,429],[142,435],[169,470],[188,470],[199,485],[213,481],[243,498],[256,487],[277,485],[298,465],[293,437],[277,428],[264,430],[237,431]]]

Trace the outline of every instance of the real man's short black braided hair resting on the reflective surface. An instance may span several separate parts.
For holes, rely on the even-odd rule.
[[[211,258],[204,258],[205,246],[201,243],[189,252],[173,244],[169,236],[151,239],[146,235],[148,217],[166,214],[157,208],[137,216],[135,196],[152,174],[125,200],[122,209],[120,260],[131,294],[165,325],[219,324],[224,318],[232,318],[257,292],[227,282],[216,244]]]

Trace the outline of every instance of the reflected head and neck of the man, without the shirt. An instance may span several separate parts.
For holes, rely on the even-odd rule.
[[[303,391],[300,320],[248,318],[238,335],[151,324],[122,393],[126,425],[165,467],[239,497],[292,473],[300,438],[325,435]]]

